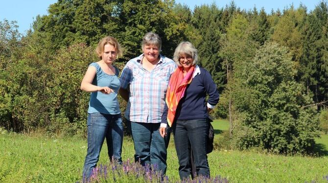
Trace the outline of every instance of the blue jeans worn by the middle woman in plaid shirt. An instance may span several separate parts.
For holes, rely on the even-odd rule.
[[[166,173],[166,145],[168,141],[160,135],[161,123],[131,122],[136,155],[141,165],[149,164]]]

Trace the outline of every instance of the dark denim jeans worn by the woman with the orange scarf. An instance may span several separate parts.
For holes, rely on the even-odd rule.
[[[207,119],[177,120],[173,126],[174,143],[179,159],[180,179],[190,178],[190,148],[194,156],[196,175],[210,177],[210,167],[206,154],[209,135]]]

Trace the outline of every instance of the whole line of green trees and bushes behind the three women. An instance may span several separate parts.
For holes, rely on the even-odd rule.
[[[308,153],[320,124],[327,128],[326,1],[311,11],[301,4],[266,13],[234,1],[191,10],[174,0],[58,0],[25,36],[17,28],[0,21],[0,126],[7,130],[85,135],[89,93],[79,85],[97,61],[96,44],[117,38],[122,69],[141,54],[149,31],[162,37],[167,57],[181,41],[196,46],[221,94],[212,115],[229,118],[233,147]]]

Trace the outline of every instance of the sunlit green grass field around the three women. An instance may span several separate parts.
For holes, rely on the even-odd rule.
[[[229,128],[228,122],[212,123],[215,140]],[[172,138],[171,138],[172,139]],[[316,139],[321,148],[328,147],[328,135]],[[218,142],[220,143],[220,142]],[[45,137],[41,135],[0,134],[1,183],[72,183],[80,180],[87,150],[86,139]],[[100,164],[108,163],[103,146]],[[124,137],[122,158],[132,159],[133,142]],[[231,183],[327,183],[328,156],[280,156],[255,151],[215,150],[209,154],[211,176],[221,175]],[[167,175],[179,180],[174,142],[168,148]]]

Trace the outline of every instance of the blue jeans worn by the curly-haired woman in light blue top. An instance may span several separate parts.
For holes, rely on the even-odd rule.
[[[121,114],[89,114],[87,127],[88,151],[84,161],[83,178],[88,179],[97,165],[105,137],[110,160],[122,162],[123,124]]]

